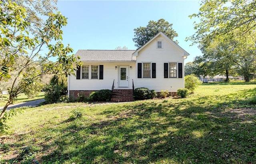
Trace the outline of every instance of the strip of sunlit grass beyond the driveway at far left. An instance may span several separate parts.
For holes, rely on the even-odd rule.
[[[4,106],[6,104],[6,102],[8,101],[9,95],[2,95],[2,98],[3,98],[2,101],[0,101],[0,107]],[[14,104],[27,102],[27,101],[31,101],[31,100],[37,100],[37,99],[44,99],[44,92],[40,92],[38,95],[36,95],[32,99],[28,99],[28,97],[24,93],[21,93],[15,99]]]

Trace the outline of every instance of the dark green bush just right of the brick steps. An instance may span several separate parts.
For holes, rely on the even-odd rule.
[[[141,87],[134,89],[134,99],[135,100],[145,100],[145,99],[153,99],[157,96],[156,91],[148,90],[148,88]]]

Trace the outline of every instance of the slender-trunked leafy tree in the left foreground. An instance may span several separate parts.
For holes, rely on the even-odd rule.
[[[38,26],[37,32],[34,32],[35,28],[28,17],[26,9],[17,3],[7,0],[0,2],[0,81],[11,83],[0,122],[18,94],[40,81],[40,76],[70,75],[74,73],[76,65],[81,65],[78,57],[68,55],[73,49],[62,44],[61,28],[66,26],[67,19],[60,12],[49,13],[45,24],[41,24],[41,28]],[[44,46],[49,49],[45,55],[40,54]],[[51,62],[50,57],[57,57],[57,61]],[[17,62],[18,59],[22,59],[22,62]],[[16,75],[12,74],[14,71]]]

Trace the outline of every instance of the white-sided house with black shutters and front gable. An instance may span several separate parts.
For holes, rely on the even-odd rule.
[[[137,50],[78,50],[75,55],[83,65],[75,76],[68,77],[70,97],[114,89],[112,101],[129,101],[133,88],[146,87],[158,93],[184,88],[184,59],[189,54],[159,32]]]

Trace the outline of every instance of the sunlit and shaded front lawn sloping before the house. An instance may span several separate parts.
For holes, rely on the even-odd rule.
[[[8,121],[8,134],[0,136],[0,159],[46,164],[254,164],[255,93],[256,83],[203,84],[186,99],[26,109]],[[76,118],[79,114],[82,117]]]

